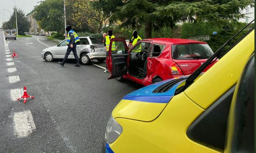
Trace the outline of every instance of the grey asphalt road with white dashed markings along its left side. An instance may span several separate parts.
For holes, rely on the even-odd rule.
[[[33,36],[5,44],[0,32],[0,152],[100,152],[113,108],[142,86],[107,80],[94,65],[46,62],[40,56],[46,45],[56,43]],[[19,57],[7,57],[13,50]],[[24,86],[35,97],[26,104],[15,100]]]

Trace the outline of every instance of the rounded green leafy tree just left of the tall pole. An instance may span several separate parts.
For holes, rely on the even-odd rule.
[[[64,27],[63,0],[45,0],[34,7],[33,17],[45,31],[58,31]]]

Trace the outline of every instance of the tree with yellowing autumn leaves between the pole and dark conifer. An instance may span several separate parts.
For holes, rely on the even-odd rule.
[[[102,10],[94,9],[92,2],[96,0],[72,0],[66,5],[70,6],[74,12],[72,17],[79,29],[100,33],[102,28],[105,28],[110,15],[105,15]]]

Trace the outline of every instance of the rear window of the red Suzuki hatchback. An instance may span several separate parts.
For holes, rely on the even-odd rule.
[[[213,55],[213,51],[208,44],[172,45],[173,59],[208,59],[211,55]]]

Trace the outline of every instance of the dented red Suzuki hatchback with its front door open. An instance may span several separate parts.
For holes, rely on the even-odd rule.
[[[107,57],[109,79],[130,79],[144,86],[192,74],[213,55],[206,42],[187,39],[144,39],[128,49],[125,40],[115,38],[110,41],[110,50],[113,42],[115,50]]]

